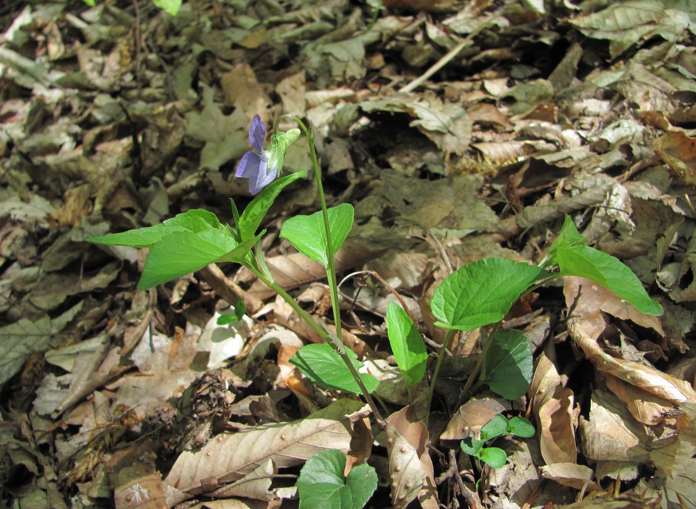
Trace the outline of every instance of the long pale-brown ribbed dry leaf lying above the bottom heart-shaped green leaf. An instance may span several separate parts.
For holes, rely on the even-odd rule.
[[[182,453],[165,482],[189,494],[212,492],[269,458],[282,468],[324,449],[348,451],[353,423],[367,412],[367,405],[342,399],[299,421],[218,435],[200,451]]]

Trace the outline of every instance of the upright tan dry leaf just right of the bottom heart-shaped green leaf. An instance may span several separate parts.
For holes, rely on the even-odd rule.
[[[410,406],[391,414],[386,423],[394,508],[405,508],[416,497],[423,508],[438,508],[433,464],[427,451],[429,439],[425,423],[415,420]]]

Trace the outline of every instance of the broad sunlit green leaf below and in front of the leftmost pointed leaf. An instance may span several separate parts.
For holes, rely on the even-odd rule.
[[[215,261],[241,261],[258,242],[260,235],[237,244],[229,232],[208,229],[203,232],[175,232],[150,249],[138,287],[147,290]]]

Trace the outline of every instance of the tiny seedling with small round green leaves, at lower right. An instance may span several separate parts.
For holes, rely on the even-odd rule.
[[[462,440],[459,446],[468,455],[480,459],[493,468],[500,468],[507,461],[505,451],[498,447],[484,447],[484,444],[503,435],[529,438],[533,437],[534,434],[534,426],[524,417],[512,417],[508,420],[503,414],[496,414],[493,419],[482,426],[479,438],[468,437]]]

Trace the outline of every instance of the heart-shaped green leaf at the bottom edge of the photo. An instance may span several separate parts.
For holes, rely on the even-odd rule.
[[[337,449],[316,453],[297,478],[299,509],[362,509],[377,490],[377,473],[361,464],[343,476],[346,455]]]

